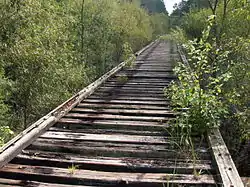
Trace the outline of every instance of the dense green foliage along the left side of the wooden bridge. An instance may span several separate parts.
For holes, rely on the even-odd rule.
[[[133,1],[0,0],[0,143],[166,32],[162,12]]]

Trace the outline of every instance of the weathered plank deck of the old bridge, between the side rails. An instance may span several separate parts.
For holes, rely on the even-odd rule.
[[[194,161],[167,131],[176,58],[169,43],[151,45],[5,164],[0,186],[220,184],[207,140],[194,137]]]

